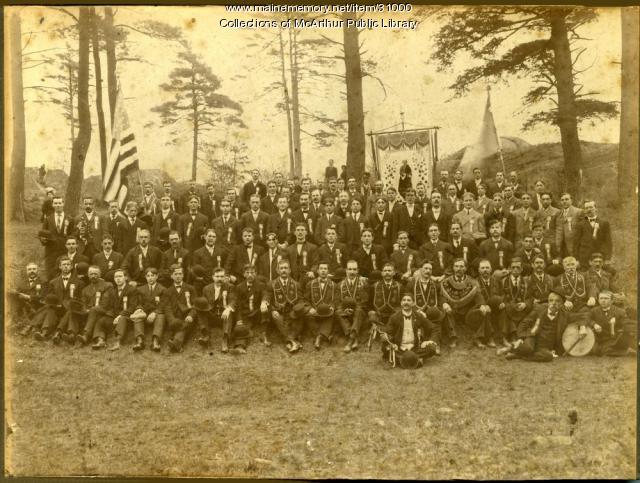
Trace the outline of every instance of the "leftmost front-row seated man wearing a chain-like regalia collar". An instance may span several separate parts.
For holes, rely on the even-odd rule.
[[[304,327],[304,317],[294,313],[294,307],[303,302],[303,294],[298,282],[291,278],[288,260],[280,260],[278,272],[280,276],[267,286],[267,303],[271,308],[273,323],[287,340],[287,349],[294,353],[302,348],[299,339]]]

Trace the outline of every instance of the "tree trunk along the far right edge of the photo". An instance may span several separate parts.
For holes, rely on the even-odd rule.
[[[622,102],[618,198],[636,200],[638,187],[638,7],[622,8]]]

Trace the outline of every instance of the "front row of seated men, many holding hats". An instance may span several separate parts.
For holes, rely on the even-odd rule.
[[[208,234],[213,235],[214,231]],[[251,230],[245,234],[251,235]],[[141,231],[137,248],[144,248],[148,236],[148,232]],[[134,264],[142,279],[135,277],[131,270],[134,266],[129,266],[111,271],[107,278],[113,283],[101,277],[103,272],[98,265],[83,268],[79,267],[80,262],[74,266],[66,256],[58,261],[60,275],[48,283],[38,278],[37,265],[30,264],[27,283],[16,292],[20,310],[29,320],[22,333],[34,332],[38,340],[52,337],[54,343],[91,343],[96,349],[106,347],[107,337],[113,334],[115,342],[110,348],[115,350],[132,327],[133,348],[141,350],[145,346],[145,328],[151,326],[153,350],[160,350],[165,337],[169,349],[180,352],[191,335],[198,343],[209,346],[211,328],[222,326],[222,351],[231,347],[245,352],[254,331],[265,344],[270,344],[269,332],[275,328],[293,353],[302,347],[301,335],[308,326],[316,348],[330,342],[338,332],[347,338],[344,350],[350,352],[373,325],[387,335],[385,350],[394,346],[402,349],[406,347],[404,329],[397,332],[398,327],[394,329],[389,324],[398,323],[395,315],[399,309],[406,311],[406,303],[402,303],[408,296],[415,328],[431,327],[428,334],[421,335],[427,340],[420,341],[420,345],[428,342],[421,347],[425,349],[422,357],[439,354],[444,342],[455,347],[458,329],[463,327],[478,347],[494,347],[497,342],[509,358],[549,360],[551,351],[540,354],[535,341],[524,344],[519,334],[523,324],[531,321],[532,311],[548,309],[551,320],[555,320],[552,309],[544,302],[553,308],[558,304],[552,304],[552,299],[560,297],[563,303],[554,325],[556,335],[561,335],[566,323],[573,321],[581,327],[594,328],[598,353],[619,354],[635,346],[634,324],[625,310],[607,306],[607,300],[613,302],[615,297],[610,290],[610,274],[602,269],[604,258],[599,253],[592,255],[586,275],[577,271],[574,257],[566,257],[557,277],[546,273],[542,255],[534,257],[529,276],[522,275],[524,263],[519,257],[498,270],[493,269],[490,260],[480,259],[477,278],[467,274],[464,258],[454,259],[452,273],[441,276],[434,275],[436,263],[429,259],[420,260],[415,267],[410,263],[397,267],[392,262],[382,262],[381,270],[374,266],[369,277],[362,275],[362,267],[354,259],[346,262],[346,269],[338,266],[333,271],[329,260],[320,260],[313,270],[303,271],[297,279],[292,276],[294,263],[288,258],[277,259],[277,274],[272,278],[257,275],[256,260],[249,256],[240,274],[228,273],[220,265],[211,274],[201,266],[192,266],[192,284],[184,280],[185,267],[173,263],[167,272],[170,282],[166,288],[158,282],[158,268],[145,266],[144,257],[138,257]],[[618,294],[617,298],[620,305],[623,297]],[[612,316],[607,319],[609,315]],[[539,330],[537,320],[538,327],[531,329],[532,333]],[[402,323],[411,322],[405,317]],[[549,336],[546,326],[540,333]],[[399,345],[393,342],[398,342],[398,337],[402,342]],[[557,337],[552,340],[558,342]],[[546,345],[544,348],[548,349]]]

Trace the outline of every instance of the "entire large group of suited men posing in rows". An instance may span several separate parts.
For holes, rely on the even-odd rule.
[[[251,339],[295,353],[303,334],[351,352],[379,335],[385,358],[421,364],[467,336],[508,359],[551,361],[572,323],[593,331],[593,353],[635,347],[595,201],[573,206],[542,180],[527,192],[515,172],[488,181],[476,168],[463,182],[441,171],[431,190],[399,193],[334,169],[315,185],[265,184],[256,170],[222,196],[146,182],[139,202],[121,212],[112,201],[106,215],[85,197],[71,217],[48,190],[44,267],[29,263],[14,292],[21,333],[116,350],[132,330],[136,351],[150,336],[152,350],[181,352],[189,340],[209,348],[221,328],[216,342],[236,353]]]

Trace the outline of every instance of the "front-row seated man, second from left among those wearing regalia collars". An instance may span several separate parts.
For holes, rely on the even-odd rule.
[[[340,301],[337,284],[329,279],[329,263],[318,263],[318,276],[307,283],[305,299],[311,305],[307,322],[313,330],[313,346],[320,349],[322,340],[331,341],[335,310]]]

